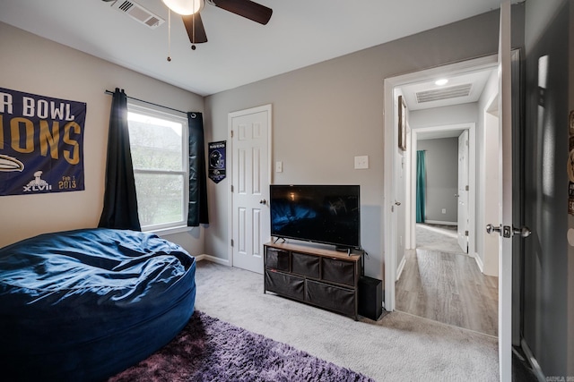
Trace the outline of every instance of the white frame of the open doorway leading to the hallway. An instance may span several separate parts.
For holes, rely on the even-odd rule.
[[[396,227],[393,225],[393,205],[397,196],[393,185],[393,174],[395,166],[396,142],[398,142],[398,129],[396,129],[396,110],[395,110],[395,89],[413,82],[428,81],[439,75],[457,74],[478,70],[491,69],[498,64],[498,55],[487,55],[471,60],[463,61],[456,64],[447,64],[435,68],[412,72],[396,77],[389,77],[384,81],[384,195],[383,195],[383,222],[384,222],[384,262],[383,272],[385,275],[385,310],[395,310],[395,282],[396,282],[396,238],[394,233]],[[411,146],[412,148],[412,146]],[[408,150],[409,148],[407,148]]]

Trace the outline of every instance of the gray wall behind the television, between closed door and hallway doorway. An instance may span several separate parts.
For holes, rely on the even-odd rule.
[[[519,19],[519,18],[518,18]],[[521,21],[513,26],[523,30]],[[206,140],[226,140],[232,111],[273,105],[274,183],[358,183],[368,276],[383,275],[383,81],[498,50],[499,13],[428,30],[205,98]],[[519,40],[522,41],[522,40]],[[519,43],[518,43],[519,44]],[[289,59],[289,57],[285,57]],[[353,170],[368,155],[370,169]],[[209,183],[205,250],[228,258],[230,180]]]

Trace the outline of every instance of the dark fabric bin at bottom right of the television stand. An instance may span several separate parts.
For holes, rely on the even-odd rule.
[[[355,293],[350,289],[307,280],[305,301],[347,316],[355,314]]]

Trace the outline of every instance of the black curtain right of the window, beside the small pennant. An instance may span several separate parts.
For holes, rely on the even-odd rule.
[[[207,216],[207,177],[205,175],[204,118],[187,113],[189,125],[189,206],[187,225],[209,224]]]

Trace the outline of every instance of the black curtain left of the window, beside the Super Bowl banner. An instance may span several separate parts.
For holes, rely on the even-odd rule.
[[[137,216],[134,166],[129,149],[127,96],[124,89],[114,92],[109,115],[106,191],[99,227],[141,231]]]

